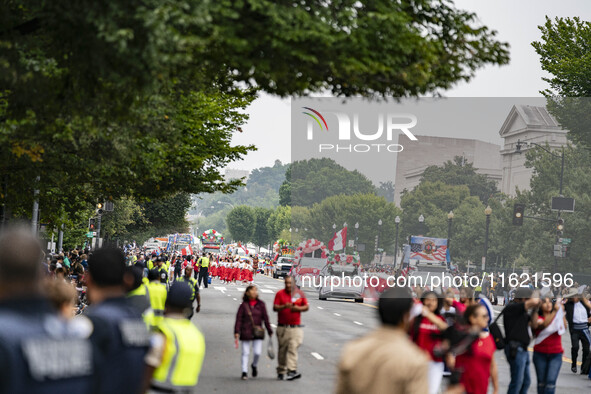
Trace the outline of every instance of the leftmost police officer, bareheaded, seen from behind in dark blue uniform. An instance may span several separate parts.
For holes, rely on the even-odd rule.
[[[41,295],[42,260],[30,233],[0,237],[0,393],[91,392],[92,344]]]

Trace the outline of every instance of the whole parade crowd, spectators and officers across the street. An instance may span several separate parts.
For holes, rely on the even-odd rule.
[[[269,259],[231,253],[125,247],[45,257],[33,236],[5,232],[0,393],[196,392],[206,348],[191,318],[201,311],[202,292],[212,281],[247,285],[233,332],[241,379],[258,376],[266,335],[277,338],[277,378],[299,379],[301,313],[308,301],[287,276],[272,306],[278,315],[274,331],[254,285],[257,274],[272,273]],[[508,393],[528,391],[531,362],[537,392],[554,393],[567,329],[571,370],[591,378],[591,303],[584,286],[542,293],[532,286],[499,290],[494,280],[482,286],[459,293],[385,289],[377,305],[381,326],[345,345],[336,392],[484,394],[492,386],[497,393],[494,354],[502,349],[510,369]],[[495,297],[503,299],[498,314],[490,301],[497,303]],[[269,357],[275,356],[272,343]]]

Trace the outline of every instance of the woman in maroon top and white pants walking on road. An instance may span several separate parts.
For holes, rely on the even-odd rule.
[[[258,375],[257,365],[263,350],[263,339],[255,339],[254,328],[255,326],[263,327],[263,324],[267,328],[269,336],[273,335],[267,307],[263,301],[259,300],[257,287],[250,285],[244,291],[242,304],[238,308],[234,324],[234,338],[240,339],[242,345],[242,380],[248,379],[248,360],[251,349],[254,355],[251,364],[252,377],[256,378]]]

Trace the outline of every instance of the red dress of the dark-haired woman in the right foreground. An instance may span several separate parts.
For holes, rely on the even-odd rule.
[[[470,394],[486,394],[490,378],[490,364],[497,347],[492,335],[478,338],[470,349],[456,357],[456,368],[462,369],[460,383]]]

